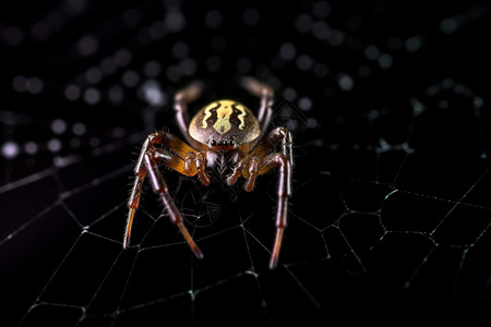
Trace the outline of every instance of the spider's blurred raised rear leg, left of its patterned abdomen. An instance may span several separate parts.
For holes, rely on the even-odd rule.
[[[173,97],[173,110],[176,111],[176,119],[179,130],[185,137],[185,141],[191,144],[195,149],[201,149],[202,144],[191,137],[188,131],[189,114],[188,104],[196,100],[203,90],[203,83],[195,81],[184,88],[178,90]]]

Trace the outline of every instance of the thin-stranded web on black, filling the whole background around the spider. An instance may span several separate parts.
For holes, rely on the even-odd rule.
[[[2,4],[5,326],[486,313],[489,9],[386,2]],[[165,170],[204,259],[148,185],[122,251],[140,146],[157,129],[179,135],[175,92],[199,77],[206,90],[191,110],[217,97],[255,109],[243,75],[275,88],[273,125],[294,132],[278,268],[267,268],[274,172],[247,193]]]

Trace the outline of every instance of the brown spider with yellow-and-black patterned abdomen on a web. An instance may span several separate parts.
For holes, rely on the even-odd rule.
[[[182,215],[169,194],[158,165],[183,175],[197,175],[205,186],[214,181],[233,185],[242,177],[247,192],[254,189],[259,175],[277,168],[279,182],[276,237],[270,261],[270,268],[276,268],[287,226],[288,198],[291,195],[292,138],[288,129],[282,126],[267,134],[265,132],[273,112],[273,89],[253,77],[243,77],[241,85],[261,99],[258,118],[242,104],[221,99],[202,108],[190,121],[188,104],[200,97],[203,84],[196,81],[177,92],[173,109],[187,143],[164,131],[149,134],[143,143],[128,202],[124,249],[130,245],[134,213],[139,207],[144,179],[148,175],[152,189],[161,198],[170,221],[179,228],[194,255],[203,258],[203,253],[185,228]],[[276,153],[274,150],[277,146],[280,152]]]

